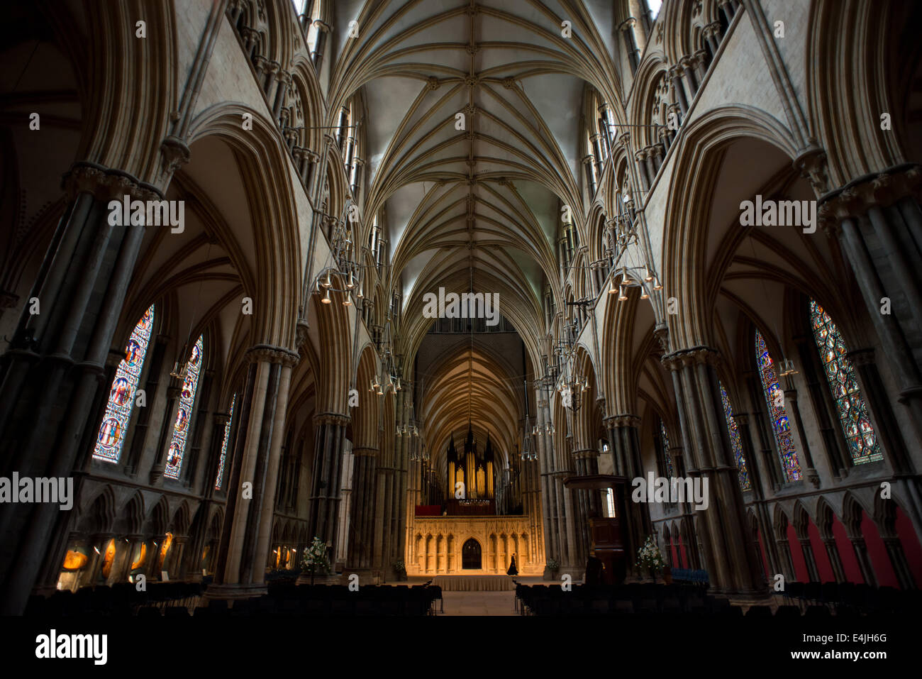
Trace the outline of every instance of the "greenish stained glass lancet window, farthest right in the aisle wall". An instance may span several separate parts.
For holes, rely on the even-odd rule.
[[[845,433],[845,442],[854,464],[877,462],[883,459],[881,446],[870,423],[868,406],[858,388],[855,368],[845,354],[848,349],[839,328],[815,300],[810,300],[810,326],[820,350],[822,367],[833,391],[839,423]]]

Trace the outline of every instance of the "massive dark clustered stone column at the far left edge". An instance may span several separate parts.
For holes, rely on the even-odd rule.
[[[67,207],[23,300],[18,328],[0,359],[0,465],[20,476],[68,477],[83,469],[81,450],[100,398],[106,355],[144,237],[141,224],[110,223],[109,201],[160,199],[160,190],[131,175],[89,162],[64,180]],[[138,204],[140,205],[140,204]],[[146,214],[146,213],[145,213]],[[169,236],[168,236],[169,238]],[[75,493],[79,490],[75,483]],[[0,506],[0,613],[21,613],[41,572],[58,506]],[[13,528],[16,527],[16,528]],[[56,555],[55,557],[56,558]]]

